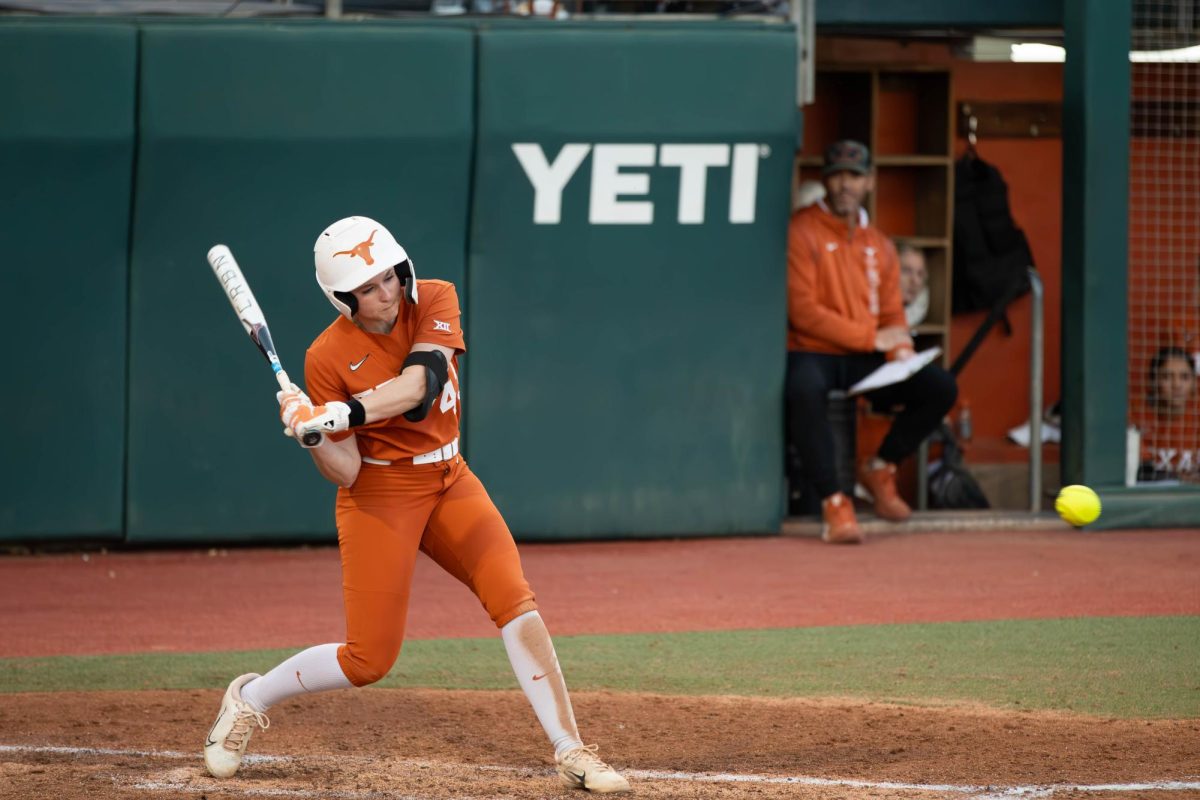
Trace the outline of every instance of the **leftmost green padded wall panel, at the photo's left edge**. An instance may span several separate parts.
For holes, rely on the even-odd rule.
[[[120,539],[137,30],[0,22],[0,540]]]

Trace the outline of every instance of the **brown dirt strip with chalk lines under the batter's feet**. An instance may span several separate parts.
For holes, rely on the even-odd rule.
[[[218,782],[199,748],[220,697],[10,696],[0,729],[10,747],[34,748],[0,752],[0,796],[583,796],[558,786],[517,692],[372,688],[289,700],[256,734],[256,758]],[[602,742],[643,798],[1015,799],[1045,796],[1050,784],[1060,784],[1056,798],[1200,796],[1200,788],[1121,789],[1195,781],[1198,721],[600,693],[581,693],[575,705],[584,736]],[[38,748],[46,742],[62,750]]]

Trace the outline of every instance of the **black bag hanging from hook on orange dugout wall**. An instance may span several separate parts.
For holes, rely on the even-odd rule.
[[[954,313],[1003,307],[1030,290],[1033,254],[1000,170],[967,152],[954,164]]]

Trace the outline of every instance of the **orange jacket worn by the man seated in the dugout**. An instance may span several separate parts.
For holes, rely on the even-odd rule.
[[[851,230],[824,203],[792,215],[787,229],[787,349],[871,353],[875,332],[907,326],[900,260],[878,228]]]

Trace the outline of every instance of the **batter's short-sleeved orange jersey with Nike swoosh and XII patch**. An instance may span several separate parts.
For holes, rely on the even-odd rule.
[[[403,416],[354,428],[359,453],[367,458],[397,461],[420,456],[448,445],[458,437],[462,392],[458,387],[458,354],[466,353],[458,293],[445,281],[418,281],[418,305],[400,303],[400,315],[388,333],[371,333],[346,317],[338,317],[308,347],[305,386],[314,404],[362,399],[395,380],[414,344],[440,344],[455,350],[450,378],[420,422]],[[335,441],[350,432],[332,434]]]

